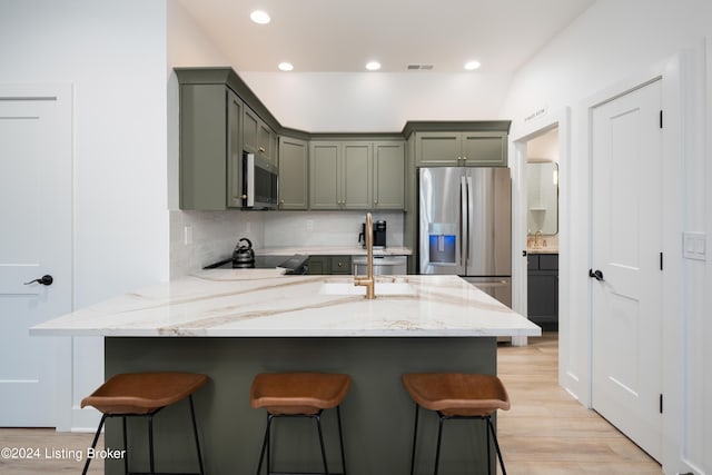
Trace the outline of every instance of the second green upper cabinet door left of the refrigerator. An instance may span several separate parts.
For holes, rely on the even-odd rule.
[[[344,209],[370,209],[373,200],[373,145],[345,142],[339,169],[340,201]]]

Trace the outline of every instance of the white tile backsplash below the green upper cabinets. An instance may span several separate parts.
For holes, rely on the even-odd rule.
[[[364,211],[171,211],[170,277],[229,257],[238,239],[265,247],[358,246]],[[403,212],[374,212],[387,222],[388,246],[403,246]]]

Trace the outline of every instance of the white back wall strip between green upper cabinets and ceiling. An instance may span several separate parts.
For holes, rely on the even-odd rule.
[[[283,126],[309,132],[390,132],[408,120],[497,119],[511,79],[476,71],[238,73]]]

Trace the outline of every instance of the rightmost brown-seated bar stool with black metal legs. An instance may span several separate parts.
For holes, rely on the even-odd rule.
[[[411,475],[415,466],[415,444],[418,431],[418,408],[435,410],[439,417],[437,447],[435,452],[435,475],[441,457],[443,423],[447,419],[484,419],[487,431],[487,473],[490,463],[490,435],[494,441],[503,475],[506,475],[502,452],[492,424],[492,415],[497,409],[510,409],[510,397],[496,376],[458,373],[404,374],[403,385],[415,402],[415,427],[413,429],[413,455]]]

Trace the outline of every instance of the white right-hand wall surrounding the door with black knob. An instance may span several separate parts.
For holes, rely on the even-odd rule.
[[[684,170],[683,182],[672,185],[682,190],[682,196],[674,198],[681,206],[671,212],[682,217],[680,229],[672,229],[672,236],[679,243],[683,230],[706,231],[710,248],[712,196],[704,184],[710,179],[709,139],[705,142],[709,125],[705,120],[712,109],[703,88],[704,37],[712,38],[712,2],[708,0],[597,0],[521,68],[512,81],[502,116],[513,119],[514,136],[535,127],[536,120],[527,123],[524,118],[536,110],[556,111],[572,107],[571,160],[562,164],[562,170],[567,170],[572,181],[566,184],[566,177],[562,177],[562,186],[568,187],[568,196],[564,192],[562,199],[571,200],[566,207],[571,214],[563,217],[565,222],[562,222],[562,240],[566,241],[568,250],[562,256],[562,280],[568,283],[570,291],[562,298],[561,318],[568,323],[567,333],[560,334],[566,340],[560,358],[563,362],[562,384],[583,400],[587,399],[590,390],[589,278],[585,271],[591,264],[584,105],[587,98],[632,75],[640,76],[641,71],[650,70],[683,50],[689,51],[680,78],[683,147],[668,156],[669,160],[682,160]],[[708,61],[710,57],[708,52]],[[708,93],[712,91],[709,72],[708,66]],[[675,108],[674,101],[668,107]],[[541,119],[542,123],[546,120],[546,117]],[[671,230],[665,232],[670,235]],[[680,253],[668,255],[666,259],[670,261],[666,269],[680,269],[681,281],[666,289],[664,299],[674,301],[681,296],[682,300],[678,307],[665,308],[663,317],[668,328],[676,328],[675,334],[665,334],[661,346],[663,360],[673,362],[672,366],[666,363],[663,376],[665,400],[673,405],[663,415],[668,446],[663,465],[665,473],[690,469],[711,473],[712,455],[709,451],[705,453],[704,447],[712,441],[712,410],[709,408],[712,384],[709,363],[705,363],[712,360],[709,349],[712,266],[709,260],[682,259]]]

